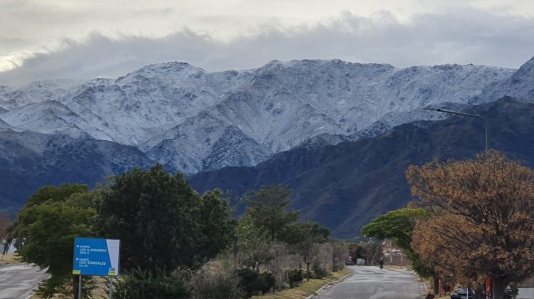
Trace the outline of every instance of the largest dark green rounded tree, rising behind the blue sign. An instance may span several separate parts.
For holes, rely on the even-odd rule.
[[[120,266],[170,273],[194,266],[202,241],[199,195],[182,174],[172,177],[160,164],[115,177],[98,204],[98,235],[119,238]]]

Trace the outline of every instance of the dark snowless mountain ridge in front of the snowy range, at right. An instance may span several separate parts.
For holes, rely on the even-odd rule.
[[[534,166],[534,104],[513,98],[472,107],[490,121],[490,146]],[[514,117],[515,115],[515,117]],[[496,125],[499,123],[500,125]],[[434,157],[473,158],[483,151],[483,125],[469,117],[399,125],[375,138],[281,152],[255,167],[226,167],[189,177],[194,189],[229,189],[239,196],[263,184],[292,187],[302,220],[351,238],[379,214],[412,199],[404,172]]]

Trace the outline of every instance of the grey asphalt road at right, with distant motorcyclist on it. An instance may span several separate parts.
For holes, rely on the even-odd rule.
[[[421,299],[412,274],[375,266],[349,266],[352,273],[335,285],[323,288],[320,299]]]

